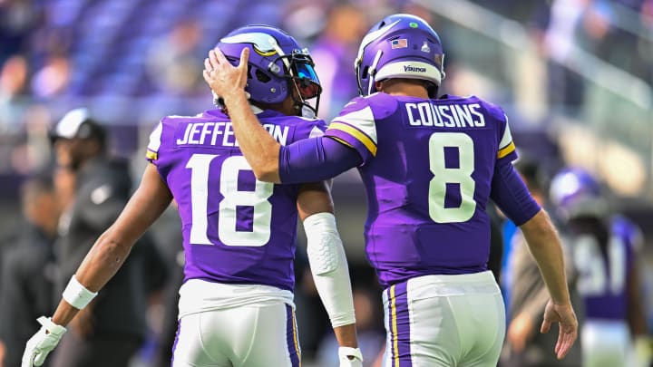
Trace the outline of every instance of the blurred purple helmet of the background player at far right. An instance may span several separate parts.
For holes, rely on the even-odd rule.
[[[562,169],[551,179],[549,196],[565,219],[603,217],[608,212],[599,181],[585,169]]]

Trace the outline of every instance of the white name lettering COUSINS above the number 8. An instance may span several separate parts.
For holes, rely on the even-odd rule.
[[[482,128],[485,118],[481,104],[434,104],[430,101],[405,103],[408,123],[411,126],[433,126],[446,128]]]

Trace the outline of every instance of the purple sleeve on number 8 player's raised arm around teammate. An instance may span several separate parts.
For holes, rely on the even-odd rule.
[[[336,177],[359,166],[363,159],[353,148],[328,137],[298,140],[279,150],[281,182],[313,182]]]

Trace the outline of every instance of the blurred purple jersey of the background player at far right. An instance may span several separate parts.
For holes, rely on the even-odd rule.
[[[589,319],[627,320],[628,275],[632,271],[639,228],[625,217],[610,221],[608,247],[601,251],[594,239],[581,237],[573,244],[578,271],[577,287]]]

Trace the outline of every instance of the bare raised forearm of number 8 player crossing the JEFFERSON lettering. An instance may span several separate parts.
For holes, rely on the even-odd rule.
[[[229,111],[229,119],[233,124],[239,148],[254,171],[254,175],[262,181],[280,182],[278,175],[280,146],[260,125],[249,106],[245,92],[233,91],[223,96],[223,99]]]

